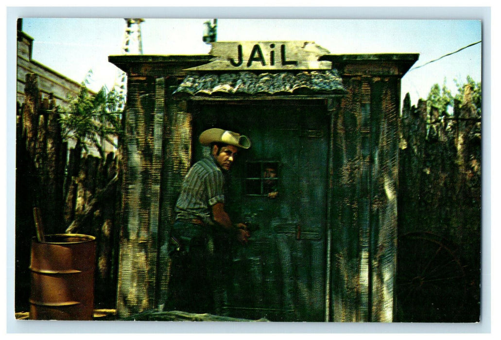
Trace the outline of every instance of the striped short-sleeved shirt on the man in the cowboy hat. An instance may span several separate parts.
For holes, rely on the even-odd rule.
[[[184,178],[176,202],[176,220],[201,219],[213,225],[211,207],[224,203],[224,175],[212,156],[196,162]]]

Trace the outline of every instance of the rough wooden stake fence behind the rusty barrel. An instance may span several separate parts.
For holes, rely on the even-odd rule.
[[[114,308],[115,233],[120,213],[118,159],[68,150],[61,137],[60,112],[42,98],[38,76],[26,77],[25,102],[17,112],[16,157],[16,310],[26,310],[30,291],[30,247],[36,235],[33,207],[46,234],[80,233],[96,237],[95,301]]]

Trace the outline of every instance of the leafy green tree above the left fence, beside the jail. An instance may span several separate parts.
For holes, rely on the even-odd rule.
[[[122,99],[114,90],[108,92],[105,87],[92,95],[84,81],[79,94],[70,101],[60,118],[63,138],[76,140],[75,148],[83,148],[87,153],[90,147],[95,147],[105,158],[104,142],[117,147],[114,139],[122,133],[121,112],[118,112]]]

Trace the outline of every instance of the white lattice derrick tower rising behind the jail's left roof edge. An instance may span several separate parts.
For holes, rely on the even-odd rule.
[[[122,43],[122,54],[123,55],[142,55],[143,46],[141,41],[141,23],[144,22],[143,19],[124,19],[125,33]],[[125,99],[127,94],[127,75],[122,70],[119,70],[117,79],[115,81],[114,90],[121,98],[121,105],[119,110],[124,109]]]

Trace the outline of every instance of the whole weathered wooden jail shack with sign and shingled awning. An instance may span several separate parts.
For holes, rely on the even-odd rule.
[[[232,212],[225,316],[393,320],[400,82],[417,54],[334,55],[308,42],[217,42],[209,55],[110,56],[126,72],[117,313],[164,302],[166,244],[201,131],[250,138]],[[268,197],[262,169],[278,170]]]

